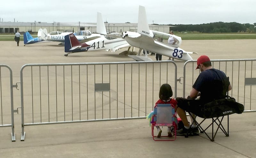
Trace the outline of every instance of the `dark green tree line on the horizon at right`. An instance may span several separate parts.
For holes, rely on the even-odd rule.
[[[202,33],[228,33],[228,32],[256,32],[256,23],[254,24],[240,24],[237,22],[212,22],[208,24],[196,25],[182,25],[182,24],[169,24],[169,26],[176,26],[171,28],[173,31],[178,32],[191,32],[197,31]]]

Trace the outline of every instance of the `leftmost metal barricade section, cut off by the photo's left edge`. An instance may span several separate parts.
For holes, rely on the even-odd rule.
[[[0,65],[0,127],[12,127],[12,141],[15,141],[12,70],[7,65]]]

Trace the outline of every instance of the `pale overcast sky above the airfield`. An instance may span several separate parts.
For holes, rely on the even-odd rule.
[[[54,3],[53,3],[54,2]],[[256,0],[12,0],[0,5],[4,22],[95,22],[97,12],[109,23],[138,22],[139,5],[148,23],[203,24],[256,22]]]

